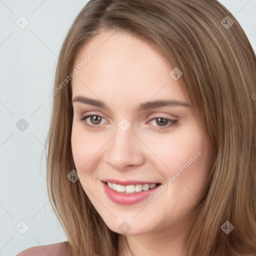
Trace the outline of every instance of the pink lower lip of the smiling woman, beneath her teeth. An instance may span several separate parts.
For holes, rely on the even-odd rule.
[[[108,198],[111,199],[113,202],[116,202],[119,204],[124,204],[124,205],[134,204],[138,201],[143,200],[146,197],[149,197],[159,187],[159,185],[157,185],[154,188],[149,189],[147,191],[126,194],[126,193],[122,193],[122,192],[117,192],[117,191],[113,190],[112,188],[110,188],[105,182],[103,182],[103,181],[101,181],[101,182],[103,184],[103,188],[104,188],[105,193],[108,196]]]

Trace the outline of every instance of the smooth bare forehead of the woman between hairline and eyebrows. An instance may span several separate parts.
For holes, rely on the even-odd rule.
[[[96,52],[96,53],[95,53]],[[95,98],[148,101],[152,97],[189,101],[174,68],[152,45],[126,32],[104,31],[79,51],[72,94]]]

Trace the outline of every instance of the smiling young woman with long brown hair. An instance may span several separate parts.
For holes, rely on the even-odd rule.
[[[256,254],[255,70],[216,0],[90,0],[48,95],[68,241],[18,255]]]

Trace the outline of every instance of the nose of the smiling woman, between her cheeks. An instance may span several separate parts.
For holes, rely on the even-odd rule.
[[[107,143],[104,162],[116,170],[127,170],[143,164],[143,144],[133,133],[132,126],[123,131],[119,127]]]

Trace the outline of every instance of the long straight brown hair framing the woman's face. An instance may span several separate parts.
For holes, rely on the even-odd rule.
[[[102,29],[138,36],[183,72],[180,79],[214,143],[185,255],[256,253],[256,57],[243,29],[217,0],[90,0],[60,50],[46,140],[48,195],[68,238],[68,255],[119,251],[118,233],[103,222],[79,180],[67,178],[75,165],[72,91],[65,79],[81,47]],[[234,226],[229,234],[221,230],[225,221]]]

